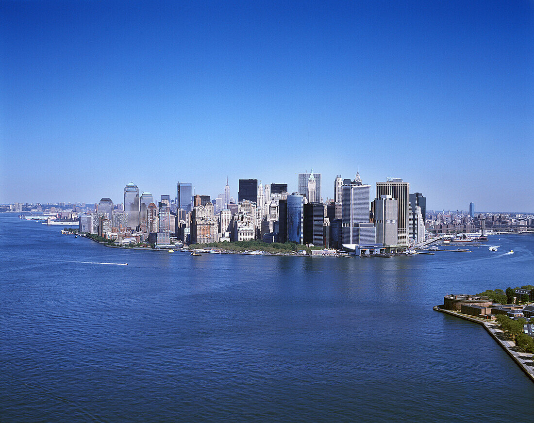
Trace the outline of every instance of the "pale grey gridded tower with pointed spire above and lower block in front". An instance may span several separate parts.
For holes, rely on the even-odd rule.
[[[341,243],[371,245],[376,242],[374,224],[369,222],[370,185],[364,185],[360,174],[354,181],[343,181]]]

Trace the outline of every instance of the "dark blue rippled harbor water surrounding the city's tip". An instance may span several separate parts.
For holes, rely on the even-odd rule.
[[[0,215],[2,422],[532,421],[511,358],[432,309],[532,283],[532,235],[347,259],[127,251],[60,229]]]

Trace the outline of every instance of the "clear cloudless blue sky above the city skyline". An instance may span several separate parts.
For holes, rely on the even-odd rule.
[[[534,211],[534,2],[0,2],[0,203],[359,170]]]

